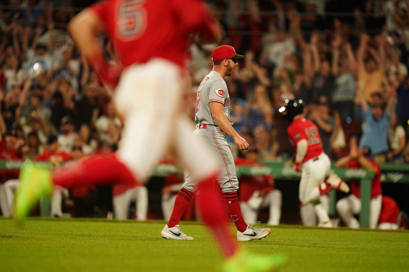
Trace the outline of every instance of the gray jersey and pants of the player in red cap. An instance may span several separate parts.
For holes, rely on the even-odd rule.
[[[229,92],[226,83],[218,72],[211,71],[202,80],[197,90],[196,100],[196,130],[193,135],[200,140],[206,141],[208,145],[210,144],[217,154],[220,165],[222,165],[218,178],[221,190],[223,192],[235,192],[239,188],[239,181],[236,175],[233,154],[226,140],[226,134],[220,130],[213,120],[209,107],[212,102],[223,104],[223,113],[229,119]],[[195,191],[195,181],[190,174],[187,174],[183,187],[189,191]]]

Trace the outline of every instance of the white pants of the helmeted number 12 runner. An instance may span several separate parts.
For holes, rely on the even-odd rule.
[[[304,205],[308,203],[312,204],[319,223],[329,221],[328,212],[320,202],[319,186],[328,177],[330,170],[331,161],[324,152],[318,157],[304,162],[301,169],[299,199]]]

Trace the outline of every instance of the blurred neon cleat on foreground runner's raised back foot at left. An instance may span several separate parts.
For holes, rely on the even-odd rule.
[[[51,170],[33,165],[26,161],[20,170],[20,186],[16,192],[14,217],[23,221],[31,209],[40,201],[42,196],[49,196],[53,192]]]

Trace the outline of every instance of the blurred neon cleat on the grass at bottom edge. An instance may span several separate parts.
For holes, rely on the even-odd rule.
[[[223,264],[223,272],[277,271],[285,264],[282,255],[258,255],[240,250]]]

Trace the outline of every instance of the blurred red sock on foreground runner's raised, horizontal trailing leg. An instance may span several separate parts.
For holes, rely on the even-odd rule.
[[[64,188],[136,182],[129,169],[113,153],[90,156],[72,166],[56,168],[52,171],[52,180],[54,185]]]

